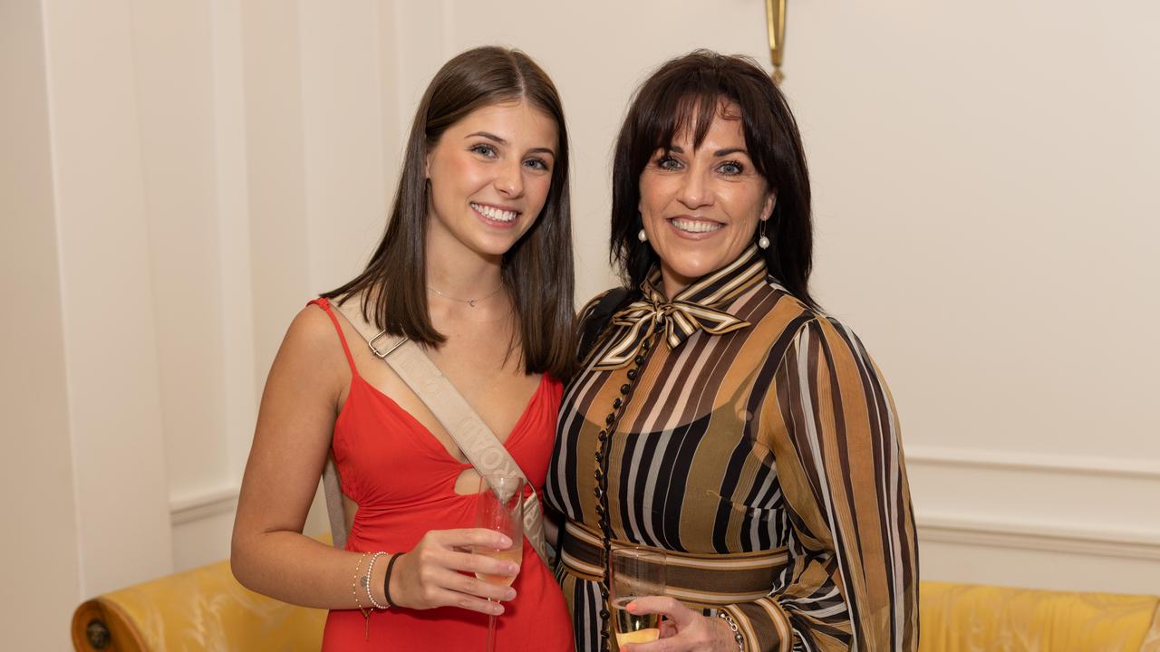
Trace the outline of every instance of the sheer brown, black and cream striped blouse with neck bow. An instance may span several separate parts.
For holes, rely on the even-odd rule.
[[[696,329],[676,346],[658,335],[639,352],[611,434],[612,538],[693,556],[784,551],[764,595],[720,607],[749,651],[916,650],[918,550],[890,392],[853,332],[754,266],[763,263],[751,248],[673,299],[747,326]],[[659,274],[646,283],[643,297],[659,294]],[[546,499],[589,533],[599,531],[596,435],[630,383],[629,365],[607,368],[607,354],[625,357],[646,335],[616,321],[565,390],[546,484]],[[597,650],[599,585],[567,565],[558,575],[577,650]],[[720,604],[690,601],[705,603]]]

